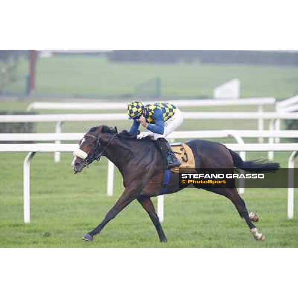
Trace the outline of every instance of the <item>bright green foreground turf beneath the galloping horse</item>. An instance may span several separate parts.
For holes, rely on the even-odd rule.
[[[263,154],[264,155],[264,154]],[[277,153],[285,166],[289,154]],[[262,154],[250,153],[249,157]],[[260,216],[257,227],[266,241],[257,242],[225,197],[188,189],[165,198],[164,231],[158,241],[142,207],[133,202],[92,243],[81,236],[93,229],[122,192],[116,174],[113,197],[106,195],[105,159],[74,175],[72,154],[37,154],[31,163],[31,223],[23,223],[22,162],[25,154],[1,153],[0,247],[297,247],[298,205],[294,220],[286,219],[286,189],[247,189],[249,211]],[[298,191],[296,190],[296,197]],[[153,199],[156,204],[157,199]]]

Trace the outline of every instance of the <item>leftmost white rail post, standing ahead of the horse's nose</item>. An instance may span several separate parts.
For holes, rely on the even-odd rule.
[[[29,152],[23,164],[24,223],[30,223],[30,160],[35,152]]]

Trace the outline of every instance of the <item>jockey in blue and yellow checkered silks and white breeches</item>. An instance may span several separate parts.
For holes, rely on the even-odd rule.
[[[166,160],[167,168],[171,169],[180,165],[180,161],[173,153],[170,144],[165,137],[173,132],[183,122],[181,111],[173,104],[167,102],[156,102],[144,106],[140,101],[133,101],[127,107],[129,119],[133,119],[130,129],[131,134],[136,134],[140,124],[148,129],[141,132],[137,139],[151,136]]]

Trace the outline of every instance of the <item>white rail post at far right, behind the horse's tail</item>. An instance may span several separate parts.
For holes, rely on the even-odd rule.
[[[295,157],[298,155],[298,151],[292,152],[288,160],[288,205],[287,205],[287,218],[289,220],[294,217],[294,167]]]

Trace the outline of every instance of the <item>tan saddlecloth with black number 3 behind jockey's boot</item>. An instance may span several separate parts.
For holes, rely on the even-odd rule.
[[[179,173],[179,169],[195,169],[195,158],[192,149],[185,143],[171,144],[172,151],[181,162],[179,167],[172,168],[173,173]]]

